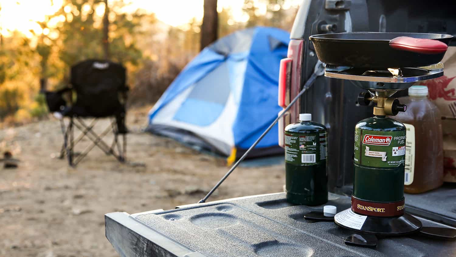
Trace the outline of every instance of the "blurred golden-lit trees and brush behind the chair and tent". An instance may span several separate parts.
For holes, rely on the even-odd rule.
[[[8,1],[23,4],[21,0]],[[134,1],[62,0],[57,12],[34,21],[37,26],[26,33],[5,33],[0,24],[0,123],[11,126],[46,118],[40,81],[49,90],[64,87],[69,67],[88,58],[108,57],[127,67],[129,106],[154,103],[207,44],[201,38],[202,29],[213,26],[213,22],[205,21],[204,25],[202,20],[193,18],[184,25],[170,26],[150,11],[132,10]],[[207,1],[217,3],[205,0],[205,5]],[[296,2],[299,1],[244,0],[241,21],[233,18],[231,8],[215,5],[215,37],[251,26],[290,31],[298,8]],[[206,7],[204,14],[208,17]]]

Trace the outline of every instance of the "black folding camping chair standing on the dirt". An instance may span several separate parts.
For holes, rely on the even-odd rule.
[[[58,91],[46,91],[46,85],[41,83],[41,91],[46,95],[49,111],[60,120],[63,145],[60,158],[65,155],[68,164],[75,167],[93,147],[97,146],[107,155],[113,155],[119,162],[125,161],[127,146],[127,128],[125,127],[125,101],[128,86],[126,70],[118,64],[109,61],[87,60],[71,68],[71,87]],[[76,101],[73,96],[76,93]],[[93,118],[86,123],[82,118]],[[110,125],[101,134],[96,134],[93,127],[98,118],[110,118]],[[64,118],[68,118],[67,125]],[[74,138],[74,126],[81,133]],[[103,137],[110,131],[114,132],[114,140],[109,146]],[[122,135],[122,142],[119,141]],[[87,136],[92,142],[83,152],[75,157],[74,147]],[[117,150],[115,149],[117,147]]]

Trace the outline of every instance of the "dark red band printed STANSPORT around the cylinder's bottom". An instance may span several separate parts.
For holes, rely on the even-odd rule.
[[[373,203],[360,200],[352,195],[352,211],[360,215],[394,217],[404,215],[405,198],[392,203]]]

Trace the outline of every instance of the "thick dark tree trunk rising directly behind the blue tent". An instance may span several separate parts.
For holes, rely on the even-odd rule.
[[[207,47],[218,37],[217,0],[204,0],[204,16],[201,25],[200,50]]]

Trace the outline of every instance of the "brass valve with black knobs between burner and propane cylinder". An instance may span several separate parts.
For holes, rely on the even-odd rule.
[[[382,97],[373,96],[371,97],[368,93],[360,93],[358,95],[359,105],[369,105],[370,102],[374,102],[377,105],[373,107],[373,114],[379,116],[385,115],[397,115],[399,111],[404,112],[407,110],[406,105],[401,105],[397,98],[393,97]]]

